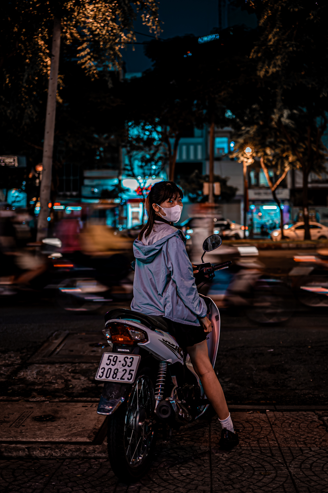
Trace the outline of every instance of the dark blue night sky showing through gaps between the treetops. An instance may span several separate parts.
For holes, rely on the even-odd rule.
[[[164,22],[163,33],[160,36],[163,39],[185,34],[206,36],[210,34],[211,29],[219,25],[218,0],[161,0],[159,16]],[[234,10],[229,21],[231,26],[244,23],[255,27],[257,24],[255,14],[248,15],[240,10]],[[149,35],[148,28],[142,25],[141,20],[135,22],[134,29]],[[136,39],[137,42],[142,42],[150,38],[137,34]],[[134,48],[135,51],[132,51],[132,46],[122,50],[126,71],[142,72],[150,68],[151,61],[144,56],[144,47],[137,44]]]

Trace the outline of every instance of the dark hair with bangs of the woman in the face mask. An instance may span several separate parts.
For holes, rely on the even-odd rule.
[[[165,200],[176,199],[180,195],[183,198],[183,193],[180,187],[176,185],[173,181],[159,181],[155,183],[150,189],[145,202],[145,209],[148,215],[148,221],[142,227],[138,240],[141,241],[142,237],[150,235],[154,228],[157,214],[153,209],[153,204],[161,205]]]

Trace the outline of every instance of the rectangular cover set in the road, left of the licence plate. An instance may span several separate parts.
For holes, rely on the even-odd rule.
[[[56,332],[30,359],[29,363],[98,363],[111,349],[102,334]]]

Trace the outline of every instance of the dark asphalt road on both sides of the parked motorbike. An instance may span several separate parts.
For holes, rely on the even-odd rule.
[[[77,315],[31,292],[18,301],[2,298],[0,395],[98,397],[96,362],[28,360],[58,331],[95,333],[101,341],[103,314],[118,305],[129,306],[110,303],[102,313]],[[215,370],[228,403],[327,405],[327,310],[299,305],[293,317],[275,326],[257,325],[242,311],[222,310]]]

